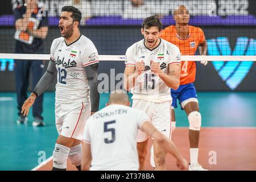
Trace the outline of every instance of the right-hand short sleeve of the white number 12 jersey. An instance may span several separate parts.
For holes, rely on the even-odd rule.
[[[85,46],[84,51],[82,52],[82,66],[87,67],[92,64],[98,63],[99,57],[98,57],[98,51],[94,44],[88,44],[88,46]]]

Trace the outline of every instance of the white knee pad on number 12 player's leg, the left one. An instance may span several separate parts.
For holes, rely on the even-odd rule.
[[[58,169],[66,169],[69,151],[70,148],[56,143],[52,154],[53,167]]]

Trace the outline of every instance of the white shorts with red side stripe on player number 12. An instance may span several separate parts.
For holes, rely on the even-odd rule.
[[[90,117],[90,103],[55,103],[56,128],[59,135],[82,139],[85,122]]]

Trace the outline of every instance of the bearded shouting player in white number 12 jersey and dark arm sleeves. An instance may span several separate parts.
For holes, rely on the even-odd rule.
[[[52,170],[65,170],[67,159],[81,169],[81,139],[86,120],[98,110],[97,92],[98,52],[92,41],[80,34],[81,12],[73,6],[61,10],[61,38],[53,40],[51,59],[30,97],[22,106],[28,111],[36,97],[55,80],[55,120],[59,137],[53,151]]]

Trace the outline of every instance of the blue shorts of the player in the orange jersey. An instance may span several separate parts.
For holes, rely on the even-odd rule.
[[[171,89],[172,107],[177,108],[177,99],[179,104],[191,98],[191,101],[197,101],[196,88],[193,83],[180,85],[177,90]],[[181,105],[181,109],[184,109]]]

